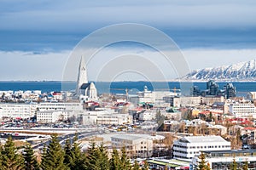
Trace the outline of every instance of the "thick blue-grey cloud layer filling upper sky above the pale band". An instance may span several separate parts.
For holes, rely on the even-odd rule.
[[[253,48],[255,7],[253,0],[3,0],[0,50],[72,49],[92,31],[124,22],[154,26],[181,48]]]

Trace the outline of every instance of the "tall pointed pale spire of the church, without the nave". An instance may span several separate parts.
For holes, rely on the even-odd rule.
[[[76,88],[76,94],[81,94],[81,87],[83,84],[88,84],[87,79],[87,69],[86,65],[84,63],[84,58],[81,56],[80,63],[79,63],[79,76],[77,81],[77,88]]]

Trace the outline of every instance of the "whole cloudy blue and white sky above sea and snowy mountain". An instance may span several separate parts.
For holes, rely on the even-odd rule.
[[[61,80],[73,50],[84,37],[122,23],[143,24],[164,32],[177,44],[190,70],[255,59],[255,8],[253,0],[1,0],[0,81]],[[137,44],[113,45],[90,62],[89,78],[96,80],[93,73],[108,63],[103,59],[105,63],[99,65],[102,57],[110,62],[111,56],[121,54],[139,54],[145,60],[158,56]],[[177,77],[175,67],[162,69],[167,79]],[[150,71],[154,73],[154,69]],[[119,80],[141,77],[143,71],[137,76],[125,72]]]

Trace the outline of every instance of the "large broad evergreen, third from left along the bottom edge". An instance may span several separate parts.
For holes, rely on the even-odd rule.
[[[44,170],[63,170],[68,169],[64,164],[64,151],[61,149],[61,144],[59,143],[56,134],[51,135],[51,140],[47,150],[43,155],[42,169]]]

